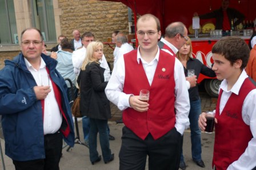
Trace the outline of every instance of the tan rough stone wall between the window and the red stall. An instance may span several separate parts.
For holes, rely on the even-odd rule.
[[[73,38],[72,31],[93,32],[95,40],[106,42],[115,30],[128,34],[128,8],[121,2],[94,0],[59,0],[62,9],[61,32],[69,39]],[[113,63],[113,49],[104,45],[107,61]]]

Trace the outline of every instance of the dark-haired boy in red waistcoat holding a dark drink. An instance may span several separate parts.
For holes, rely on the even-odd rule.
[[[240,38],[226,37],[214,45],[212,52],[212,69],[223,80],[215,110],[213,167],[256,168],[256,83],[244,70],[249,48]],[[205,130],[205,113],[198,123]]]

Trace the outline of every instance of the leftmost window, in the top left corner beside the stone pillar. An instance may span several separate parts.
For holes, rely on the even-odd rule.
[[[0,0],[0,44],[18,44],[13,0]]]

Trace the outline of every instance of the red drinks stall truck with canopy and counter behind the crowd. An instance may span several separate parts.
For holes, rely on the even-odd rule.
[[[193,0],[193,1],[173,1],[173,0],[103,0],[112,2],[122,2],[134,13],[134,24],[137,22],[137,16],[143,14],[153,14],[157,16],[161,22],[162,35],[165,34],[165,28],[171,23],[183,22],[187,29],[190,30],[190,38],[193,46],[193,57],[200,60],[207,67],[211,67],[213,60],[211,59],[211,48],[219,40],[219,38],[211,38],[209,32],[199,32],[198,38],[195,38],[191,32],[193,14],[197,12],[199,15],[209,13],[221,7],[222,0]],[[246,22],[253,21],[256,18],[255,0],[230,0],[229,7],[237,9],[245,15]],[[207,23],[215,24],[215,19],[201,19],[200,24],[203,26]],[[203,31],[203,30],[202,30]],[[203,34],[205,33],[205,34]],[[247,43],[250,36],[241,38]],[[218,97],[218,89],[221,81],[216,78],[203,76],[198,77],[198,84],[204,84],[206,92],[212,97]]]

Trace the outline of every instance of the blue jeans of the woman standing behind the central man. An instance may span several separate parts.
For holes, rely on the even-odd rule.
[[[201,114],[201,99],[190,102],[189,122],[190,122],[190,137],[191,137],[191,153],[192,159],[195,161],[201,160],[202,147],[201,147],[201,130],[198,126],[198,118]],[[181,151],[181,161],[184,157]]]

